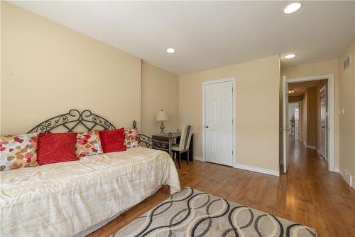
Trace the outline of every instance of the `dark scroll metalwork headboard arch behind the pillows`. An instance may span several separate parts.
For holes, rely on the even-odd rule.
[[[61,128],[65,132],[74,132],[75,127],[81,125],[87,131],[93,129],[99,130],[114,130],[116,129],[114,125],[106,120],[104,117],[93,114],[90,110],[70,110],[66,114],[58,115],[51,117],[48,120],[41,122],[39,125],[36,125],[28,133],[31,132],[45,132],[50,133],[50,131]]]

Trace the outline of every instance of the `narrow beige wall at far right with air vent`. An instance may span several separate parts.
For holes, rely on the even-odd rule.
[[[351,53],[352,65],[345,71],[342,63]],[[339,57],[339,107],[344,114],[339,115],[339,169],[347,170],[355,182],[355,40],[346,47]],[[355,185],[353,184],[353,187]]]

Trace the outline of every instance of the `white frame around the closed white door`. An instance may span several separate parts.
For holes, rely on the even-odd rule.
[[[233,147],[233,154],[231,155],[232,157],[232,162],[231,166],[235,167],[236,165],[236,78],[224,78],[224,79],[219,79],[219,80],[212,80],[212,81],[207,81],[202,83],[202,162],[206,162],[206,152],[205,152],[205,140],[206,140],[206,132],[204,130],[205,126],[205,108],[204,108],[204,88],[206,85],[209,84],[215,84],[215,83],[226,83],[226,82],[232,82],[232,116],[233,116],[233,127],[232,127],[232,147]]]

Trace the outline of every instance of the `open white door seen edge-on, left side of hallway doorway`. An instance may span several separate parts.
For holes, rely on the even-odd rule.
[[[288,121],[288,81],[286,80],[286,77],[283,76],[283,81],[282,81],[282,90],[281,90],[281,96],[280,96],[280,102],[281,102],[281,126],[280,126],[280,160],[281,163],[283,164],[283,172],[286,173],[288,170],[288,149],[289,149],[289,136],[288,136],[288,131],[290,130],[289,128],[289,121]]]

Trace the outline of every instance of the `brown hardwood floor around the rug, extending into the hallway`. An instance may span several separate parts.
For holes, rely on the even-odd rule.
[[[295,141],[280,178],[207,162],[182,161],[182,187],[220,196],[316,228],[318,236],[355,236],[355,191],[327,171],[314,149]],[[166,186],[89,236],[109,236],[170,196]]]

